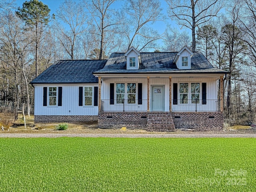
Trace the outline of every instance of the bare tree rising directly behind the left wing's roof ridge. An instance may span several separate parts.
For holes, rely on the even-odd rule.
[[[57,38],[72,60],[75,58],[76,38],[88,27],[88,17],[84,11],[84,6],[81,5],[82,2],[65,0],[56,14],[56,17],[69,28],[66,30],[64,27],[58,26],[60,34]]]

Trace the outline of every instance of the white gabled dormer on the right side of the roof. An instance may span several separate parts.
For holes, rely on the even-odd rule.
[[[184,46],[175,56],[174,63],[178,69],[191,69],[191,57],[193,52]]]

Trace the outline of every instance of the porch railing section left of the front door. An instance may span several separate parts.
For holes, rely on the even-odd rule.
[[[101,100],[102,111],[147,111],[147,100]]]

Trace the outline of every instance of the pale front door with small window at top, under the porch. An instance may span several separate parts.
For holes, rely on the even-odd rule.
[[[152,111],[164,111],[164,86],[152,86]]]

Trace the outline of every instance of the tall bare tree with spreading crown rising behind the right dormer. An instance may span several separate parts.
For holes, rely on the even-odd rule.
[[[166,0],[168,14],[182,27],[192,30],[192,51],[196,51],[196,28],[217,16],[223,7],[223,0]]]

